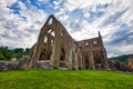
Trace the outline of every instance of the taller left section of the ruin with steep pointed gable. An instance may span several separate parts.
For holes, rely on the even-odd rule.
[[[51,21],[51,22],[50,22]],[[37,61],[48,61],[53,68],[82,68],[82,55],[78,43],[66,32],[65,28],[51,16],[42,27],[37,43],[31,49],[31,65]],[[79,63],[80,62],[80,63]]]

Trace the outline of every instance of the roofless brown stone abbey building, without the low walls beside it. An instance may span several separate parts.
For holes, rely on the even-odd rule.
[[[42,27],[37,43],[30,52],[30,67],[106,69],[106,51],[99,37],[75,41],[54,16]]]

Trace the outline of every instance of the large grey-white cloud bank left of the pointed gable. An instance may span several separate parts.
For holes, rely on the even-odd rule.
[[[45,21],[47,13],[33,6],[29,9],[21,1],[18,1],[21,11],[20,14],[14,14],[7,8],[14,2],[11,2],[11,0],[10,2],[0,2],[2,4],[0,6],[0,11],[2,11],[0,19],[3,19],[0,20],[0,46],[30,48],[38,39],[38,33]]]

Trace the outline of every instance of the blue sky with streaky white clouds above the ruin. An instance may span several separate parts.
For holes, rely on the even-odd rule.
[[[0,46],[30,48],[54,14],[75,40],[101,31],[108,56],[133,53],[133,0],[1,0]]]

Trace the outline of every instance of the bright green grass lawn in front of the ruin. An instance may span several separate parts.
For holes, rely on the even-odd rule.
[[[133,89],[133,75],[102,70],[0,71],[0,89]]]

